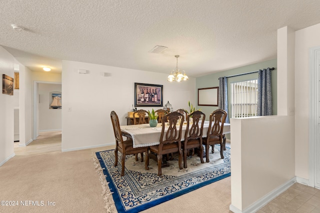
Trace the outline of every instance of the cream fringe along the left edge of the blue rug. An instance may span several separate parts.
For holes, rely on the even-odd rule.
[[[100,167],[99,160],[96,158],[95,154],[91,153],[91,157],[93,160],[95,172],[99,175],[99,180],[102,185],[102,196],[103,196],[103,201],[105,203],[104,209],[106,209],[107,213],[116,213],[115,211],[115,206],[114,206],[114,201],[112,199],[112,192],[110,191],[108,187],[108,182],[106,182],[105,175],[103,175],[103,170]]]

